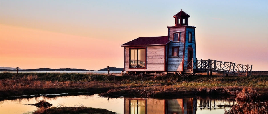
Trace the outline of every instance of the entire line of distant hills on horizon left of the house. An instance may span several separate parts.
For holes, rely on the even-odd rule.
[[[123,68],[109,67],[110,71],[123,71]],[[60,69],[51,69],[51,68],[38,68],[38,69],[18,69],[19,71],[94,71],[94,70],[85,70],[85,69],[75,69],[75,68],[60,68]],[[16,68],[11,67],[0,67],[0,71],[17,71]],[[107,68],[100,69],[98,71],[107,71]]]

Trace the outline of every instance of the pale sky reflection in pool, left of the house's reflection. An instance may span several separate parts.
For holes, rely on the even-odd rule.
[[[103,108],[109,111],[117,112],[123,114],[123,98],[102,98],[98,95],[86,96],[62,96],[62,97],[36,97],[29,99],[16,99],[16,100],[4,100],[0,101],[0,111],[3,114],[31,114],[33,111],[37,110],[37,107],[25,104],[34,104],[40,100],[45,100],[51,104],[52,107],[57,107],[58,105],[64,105],[67,107],[94,107],[94,108]]]

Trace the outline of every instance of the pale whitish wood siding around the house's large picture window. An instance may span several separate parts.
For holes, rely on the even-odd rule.
[[[146,69],[129,69],[129,47],[126,47],[125,71],[165,71],[165,46],[146,48]]]

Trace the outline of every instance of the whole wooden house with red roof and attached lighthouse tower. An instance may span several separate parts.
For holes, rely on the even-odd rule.
[[[173,16],[168,35],[139,37],[124,47],[123,73],[193,73],[196,61],[195,28],[184,11]]]

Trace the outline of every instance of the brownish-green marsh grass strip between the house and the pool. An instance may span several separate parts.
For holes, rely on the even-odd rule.
[[[0,73],[0,97],[62,92],[103,92],[102,96],[166,98],[187,96],[234,96],[252,88],[268,96],[267,72],[251,76],[207,75],[107,76],[78,73]],[[264,97],[263,97],[264,96]]]

